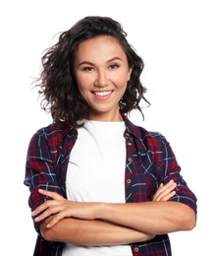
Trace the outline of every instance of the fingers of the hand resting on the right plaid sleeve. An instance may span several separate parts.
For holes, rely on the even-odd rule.
[[[177,183],[171,179],[166,185],[163,183],[160,184],[159,188],[157,189],[156,193],[152,196],[152,201],[168,201],[172,198],[175,194],[175,188],[177,187]]]

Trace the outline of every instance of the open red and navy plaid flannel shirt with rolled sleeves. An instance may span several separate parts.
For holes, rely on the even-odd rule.
[[[172,201],[187,204],[196,213],[196,197],[181,175],[170,144],[158,132],[148,132],[135,126],[123,115],[126,131],[126,203],[151,201],[160,183],[174,179],[178,184],[177,194]],[[76,129],[56,128],[53,124],[39,129],[31,138],[27,151],[25,185],[30,196],[31,211],[44,203],[44,196],[38,188],[55,191],[65,198],[66,172],[70,153],[78,138]],[[115,147],[115,141],[113,142]],[[132,216],[133,218],[133,216]],[[62,242],[46,241],[40,234],[39,225],[34,256],[61,256]],[[171,245],[168,234],[157,235],[154,239],[131,245],[134,256],[170,256]]]

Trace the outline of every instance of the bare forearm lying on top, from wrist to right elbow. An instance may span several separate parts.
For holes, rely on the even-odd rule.
[[[194,227],[195,214],[178,202],[101,204],[98,218],[146,233],[163,234]]]

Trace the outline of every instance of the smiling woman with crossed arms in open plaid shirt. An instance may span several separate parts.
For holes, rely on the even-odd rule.
[[[127,117],[148,101],[126,37],[111,18],[86,17],[43,55],[36,86],[53,123],[27,152],[34,255],[171,255],[168,233],[195,225],[169,143]]]

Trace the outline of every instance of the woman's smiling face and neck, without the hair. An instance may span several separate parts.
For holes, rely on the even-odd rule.
[[[132,69],[114,37],[101,35],[82,41],[74,73],[81,96],[89,105],[89,119],[122,120],[119,101],[126,91]]]

